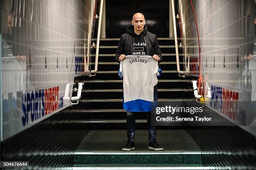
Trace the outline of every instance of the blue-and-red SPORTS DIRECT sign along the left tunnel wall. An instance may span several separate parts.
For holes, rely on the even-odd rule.
[[[61,91],[60,91],[61,89]],[[53,87],[17,91],[4,95],[4,139],[50,117],[68,107],[63,102],[65,84]]]

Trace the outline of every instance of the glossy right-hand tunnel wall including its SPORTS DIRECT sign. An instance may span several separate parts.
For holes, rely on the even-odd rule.
[[[254,0],[192,0],[200,37],[205,104],[252,132],[256,58]],[[199,75],[197,29],[190,0],[179,0],[182,45],[190,76]],[[254,56],[254,58],[253,58]],[[209,92],[208,92],[209,91]],[[208,95],[208,96],[207,96]]]

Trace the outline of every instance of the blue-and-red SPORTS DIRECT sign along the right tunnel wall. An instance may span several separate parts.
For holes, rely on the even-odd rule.
[[[251,92],[210,85],[211,98],[205,104],[236,125],[248,126],[255,119],[253,102],[248,98]]]

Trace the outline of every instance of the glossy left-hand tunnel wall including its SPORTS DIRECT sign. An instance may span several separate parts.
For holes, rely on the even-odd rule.
[[[0,3],[5,140],[70,105],[63,96],[83,73],[94,8],[93,0]]]

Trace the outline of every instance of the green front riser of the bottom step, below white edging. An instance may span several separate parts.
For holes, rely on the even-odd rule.
[[[200,151],[157,152],[75,152],[75,164],[201,165]],[[178,168],[179,169],[179,168]]]

